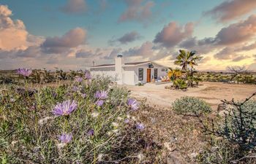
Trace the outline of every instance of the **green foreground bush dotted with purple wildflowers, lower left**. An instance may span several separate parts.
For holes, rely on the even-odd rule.
[[[130,116],[138,102],[109,85],[105,78],[59,87],[2,85],[1,163],[138,163],[146,152],[155,157],[145,126]]]

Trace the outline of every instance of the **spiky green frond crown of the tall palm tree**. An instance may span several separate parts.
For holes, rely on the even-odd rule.
[[[201,60],[203,57],[200,55],[195,55],[195,51],[186,52],[185,50],[179,50],[180,54],[177,56],[177,60],[174,61],[176,65],[182,66],[182,71],[187,71],[187,66],[197,66],[197,61]]]

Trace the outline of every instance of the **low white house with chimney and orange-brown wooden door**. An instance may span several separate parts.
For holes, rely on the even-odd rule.
[[[115,64],[103,64],[90,68],[92,75],[105,75],[117,78],[119,85],[138,85],[139,82],[152,82],[167,75],[167,67],[153,61],[124,63],[122,55],[117,55]]]

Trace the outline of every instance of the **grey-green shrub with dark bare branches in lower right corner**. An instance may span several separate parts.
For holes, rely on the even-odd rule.
[[[199,155],[200,163],[256,163],[256,100],[222,101],[225,116],[219,122],[203,124],[203,132],[213,136],[210,146]],[[214,141],[214,143],[212,142]]]

